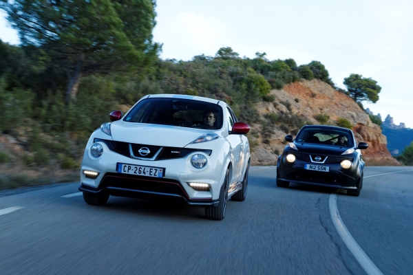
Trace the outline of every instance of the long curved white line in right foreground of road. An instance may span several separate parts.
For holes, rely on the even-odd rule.
[[[353,239],[350,232],[348,232],[346,225],[344,225],[343,221],[341,220],[339,210],[337,209],[337,193],[332,193],[330,195],[330,199],[328,201],[328,206],[330,208],[330,214],[332,223],[334,223],[335,228],[339,232],[341,239],[343,239],[344,243],[346,243],[348,249],[354,255],[354,258],[360,263],[361,267],[366,271],[367,274],[381,274],[379,268],[370,260],[367,254],[360,248],[357,242]]]

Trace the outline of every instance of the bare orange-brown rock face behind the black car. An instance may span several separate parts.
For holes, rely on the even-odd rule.
[[[369,147],[363,151],[363,159],[368,165],[400,165],[386,148],[387,139],[381,133],[379,125],[371,122],[368,114],[361,110],[359,105],[346,94],[333,89],[321,80],[301,80],[286,85],[284,89],[272,90],[275,102],[260,102],[256,108],[262,120],[269,114],[275,113],[278,117],[299,117],[304,124],[320,124],[317,115],[328,118],[326,124],[337,125],[339,118],[348,120],[353,128],[357,142],[367,142]],[[327,116],[328,115],[328,116]],[[264,130],[264,131],[263,131]],[[272,131],[264,129],[262,124],[251,125],[251,132],[255,137],[248,135],[253,147],[251,165],[275,165],[277,157],[286,146],[285,135],[294,133],[291,127],[283,129],[280,124],[274,125]],[[286,133],[288,132],[288,133]],[[261,133],[257,136],[257,133]],[[263,133],[270,135],[264,138]]]

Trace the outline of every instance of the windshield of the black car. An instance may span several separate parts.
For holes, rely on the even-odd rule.
[[[347,131],[340,131],[339,129],[306,128],[298,133],[295,141],[341,147],[354,146],[352,135]]]

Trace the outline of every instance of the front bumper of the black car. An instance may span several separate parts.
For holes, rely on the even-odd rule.
[[[279,166],[279,179],[297,184],[312,184],[333,188],[357,189],[357,168],[343,169],[340,164],[317,164],[328,166],[329,172],[304,169],[305,164],[314,164],[296,159],[293,164],[286,162],[285,157]]]

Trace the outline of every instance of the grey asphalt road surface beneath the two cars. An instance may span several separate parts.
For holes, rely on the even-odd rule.
[[[277,188],[275,167],[251,167],[246,201],[229,201],[223,221],[176,204],[62,197],[78,183],[0,192],[0,274],[366,274],[332,222],[332,192],[372,263],[413,274],[413,167],[366,167],[364,176],[350,197]]]

